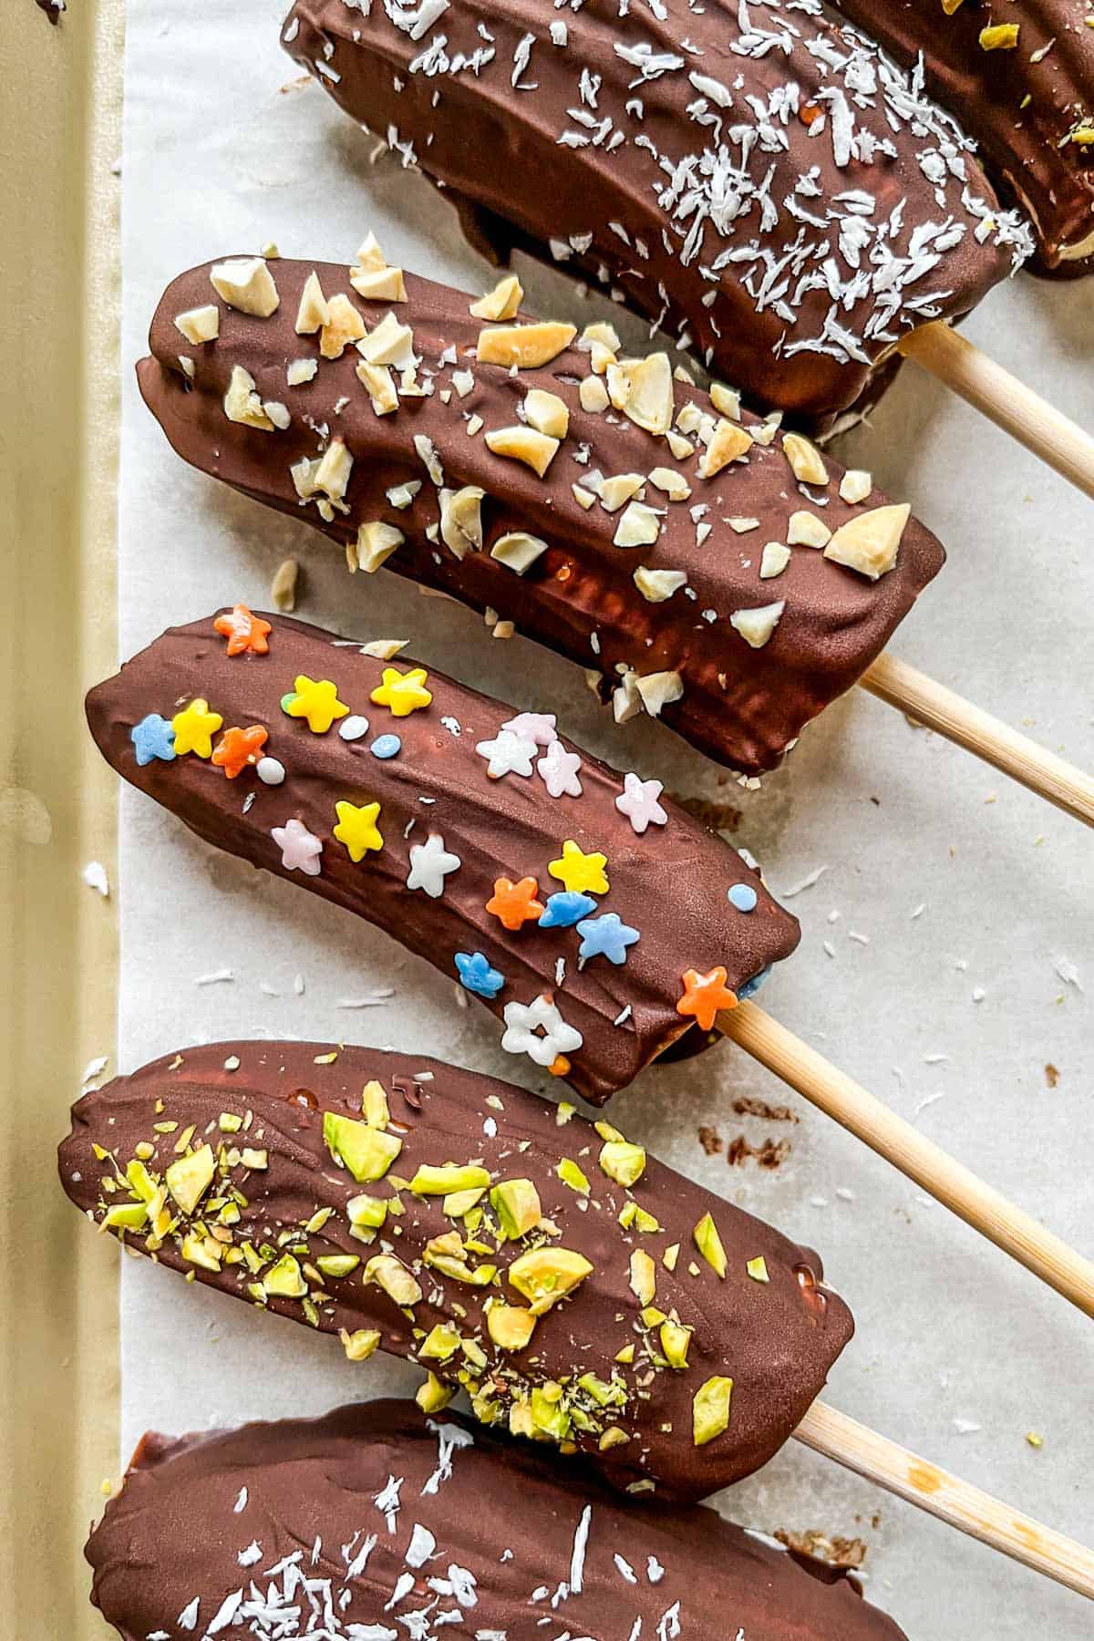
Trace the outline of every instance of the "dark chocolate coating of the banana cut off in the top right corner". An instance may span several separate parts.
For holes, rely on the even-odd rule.
[[[1089,0],[835,0],[900,62],[920,53],[927,87],[960,113],[1001,190],[1028,212],[1045,272],[1089,272],[1094,253],[1094,148],[1074,131],[1094,123]],[[1017,23],[1014,51],[984,51],[981,30]],[[1086,245],[1083,258],[1076,248]],[[1071,254],[1068,254],[1071,253]]]

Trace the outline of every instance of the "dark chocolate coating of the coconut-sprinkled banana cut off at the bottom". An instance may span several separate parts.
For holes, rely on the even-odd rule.
[[[389,1518],[376,1500],[392,1479],[400,1483],[400,1508]],[[433,1536],[436,1559],[412,1567],[399,1602],[389,1605],[408,1572],[412,1544],[415,1562],[430,1547],[415,1524]],[[367,1564],[351,1575],[372,1534]],[[294,1593],[282,1608],[297,1602],[307,1618],[312,1600],[320,1613],[333,1610],[335,1628],[321,1633],[348,1641],[354,1634],[395,1641],[412,1633],[400,1620],[426,1608],[433,1621],[413,1633],[430,1641],[449,1633],[508,1641],[561,1634],[900,1641],[904,1634],[861,1598],[853,1577],[781,1554],[713,1510],[620,1505],[592,1477],[500,1449],[481,1431],[471,1439],[454,1415],[423,1419],[402,1401],[180,1441],[149,1434],[85,1554],[92,1602],[123,1641],[203,1634],[236,1592],[236,1610],[256,1620],[248,1633],[272,1634],[258,1613],[271,1587],[285,1595],[285,1572],[271,1579],[284,1557],[297,1557],[302,1579],[289,1572]],[[189,1616],[194,1602],[195,1628],[182,1630],[179,1615]],[[451,1610],[463,1621],[449,1630],[435,1615]],[[302,1623],[277,1633],[305,1630]]]

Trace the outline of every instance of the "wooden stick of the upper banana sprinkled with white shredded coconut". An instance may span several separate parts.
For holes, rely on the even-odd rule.
[[[910,331],[897,346],[1064,479],[1094,496],[1094,438],[1017,376],[941,320]]]

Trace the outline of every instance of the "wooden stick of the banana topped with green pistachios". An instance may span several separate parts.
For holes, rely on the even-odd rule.
[[[846,1413],[814,1401],[794,1436],[814,1452],[835,1459],[981,1544],[1094,1600],[1094,1551],[1053,1528],[1043,1528],[1020,1510],[1010,1510],[991,1493],[919,1459],[886,1436],[876,1436]]]

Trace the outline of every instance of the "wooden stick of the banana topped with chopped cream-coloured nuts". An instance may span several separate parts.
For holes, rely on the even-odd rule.
[[[905,661],[897,661],[892,655],[879,655],[863,673],[859,684],[879,701],[887,701],[928,729],[938,730],[955,745],[976,753],[984,763],[991,763],[1038,798],[1046,798],[1076,820],[1094,825],[1092,776],[1038,747],[1028,735],[1020,735],[991,712],[981,712],[953,689],[937,684],[933,678],[927,678]]]

